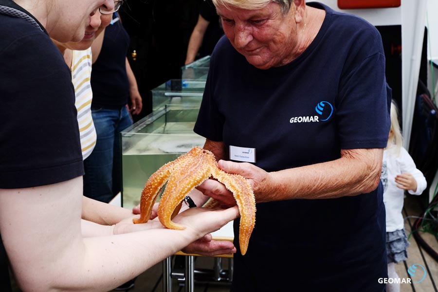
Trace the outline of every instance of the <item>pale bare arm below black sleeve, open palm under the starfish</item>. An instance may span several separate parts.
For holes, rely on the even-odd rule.
[[[0,232],[23,291],[109,291],[238,216],[191,208],[174,219],[183,231],[83,238],[81,205],[82,177],[0,190]]]

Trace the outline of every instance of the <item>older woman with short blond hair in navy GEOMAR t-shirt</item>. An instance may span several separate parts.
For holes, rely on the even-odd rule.
[[[250,180],[257,204],[232,290],[383,291],[391,93],[380,34],[318,2],[213,2],[225,37],[194,130],[220,168]],[[199,189],[235,204],[216,181]]]

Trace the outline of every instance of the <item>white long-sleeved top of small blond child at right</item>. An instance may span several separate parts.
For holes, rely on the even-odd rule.
[[[402,208],[404,190],[397,187],[395,177],[402,173],[410,173],[417,181],[417,191],[409,190],[411,195],[420,195],[427,186],[426,179],[417,169],[409,153],[403,147],[397,153],[396,147],[383,150],[382,176],[383,202],[386,209],[386,232],[393,232],[404,228]]]

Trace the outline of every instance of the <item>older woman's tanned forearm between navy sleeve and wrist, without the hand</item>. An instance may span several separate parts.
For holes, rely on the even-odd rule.
[[[335,161],[270,173],[257,201],[331,199],[376,189],[382,169],[382,149],[352,149]]]

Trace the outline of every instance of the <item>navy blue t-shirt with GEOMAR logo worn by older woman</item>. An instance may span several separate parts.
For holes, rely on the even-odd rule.
[[[333,161],[341,149],[384,148],[388,138],[391,94],[378,31],[307,5],[326,17],[291,63],[259,70],[226,37],[211,57],[194,130],[225,150],[256,148],[255,164],[266,171]],[[248,252],[235,254],[234,290],[282,291],[288,281],[297,291],[383,291],[382,198],[380,184],[354,197],[258,203]],[[238,220],[234,232],[237,240]]]

